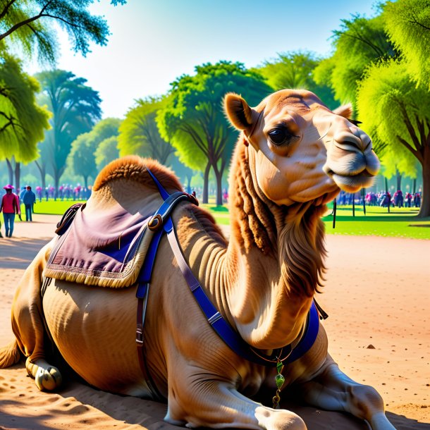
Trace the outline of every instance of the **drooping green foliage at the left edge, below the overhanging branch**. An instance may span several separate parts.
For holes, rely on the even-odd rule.
[[[49,112],[36,102],[37,80],[21,69],[21,63],[0,50],[0,159],[37,158],[37,142],[49,128]]]

